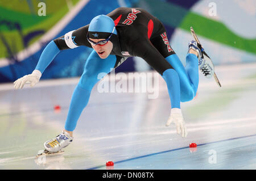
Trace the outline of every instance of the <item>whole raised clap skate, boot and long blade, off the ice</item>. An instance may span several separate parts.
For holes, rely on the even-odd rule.
[[[211,78],[213,75],[217,85],[221,87],[220,81],[218,81],[218,78],[217,78],[216,74],[214,73],[214,65],[213,65],[212,60],[210,60],[210,57],[205,52],[203,46],[201,45],[201,43],[200,43],[199,39],[197,38],[196,33],[192,27],[190,27],[190,30],[191,30],[191,33],[192,33],[193,37],[195,38],[196,42],[193,42],[193,40],[192,40],[189,43],[189,46],[192,49],[196,50],[198,53],[200,52],[199,53],[199,68],[200,68],[201,72],[207,78]],[[200,51],[198,51],[197,49],[200,49]]]

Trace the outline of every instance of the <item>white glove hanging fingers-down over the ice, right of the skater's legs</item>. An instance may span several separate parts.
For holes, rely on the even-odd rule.
[[[166,123],[166,126],[168,127],[171,123],[176,124],[177,134],[181,133],[182,137],[187,137],[188,135],[187,128],[185,126],[185,122],[184,122],[181,110],[179,108],[171,109],[171,115]]]

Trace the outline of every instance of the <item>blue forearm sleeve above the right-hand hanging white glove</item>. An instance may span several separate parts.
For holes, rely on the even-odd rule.
[[[180,80],[174,69],[167,69],[162,77],[166,81],[168,93],[171,99],[171,108],[180,108]]]

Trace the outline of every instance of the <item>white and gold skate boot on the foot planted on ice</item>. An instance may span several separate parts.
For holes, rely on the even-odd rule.
[[[44,148],[49,153],[57,153],[61,149],[67,147],[73,141],[73,137],[69,136],[69,133],[62,132],[52,140],[46,141],[44,143]]]

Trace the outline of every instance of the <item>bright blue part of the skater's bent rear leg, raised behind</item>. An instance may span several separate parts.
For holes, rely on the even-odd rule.
[[[187,65],[185,68],[176,54],[172,54],[166,57],[166,60],[171,64],[171,66],[177,71],[177,74],[179,75],[181,102],[192,100],[196,95],[199,79],[197,57],[195,54],[189,53],[186,57]]]

